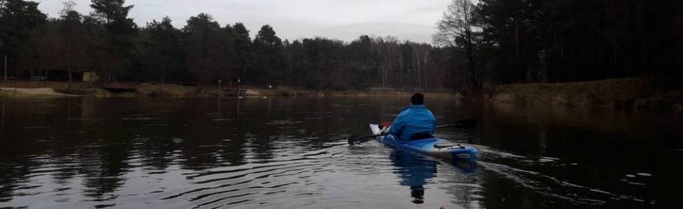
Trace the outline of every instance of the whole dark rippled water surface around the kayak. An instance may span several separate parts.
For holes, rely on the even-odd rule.
[[[3,100],[0,208],[680,208],[683,117],[427,98],[476,164],[392,150],[407,98]]]

